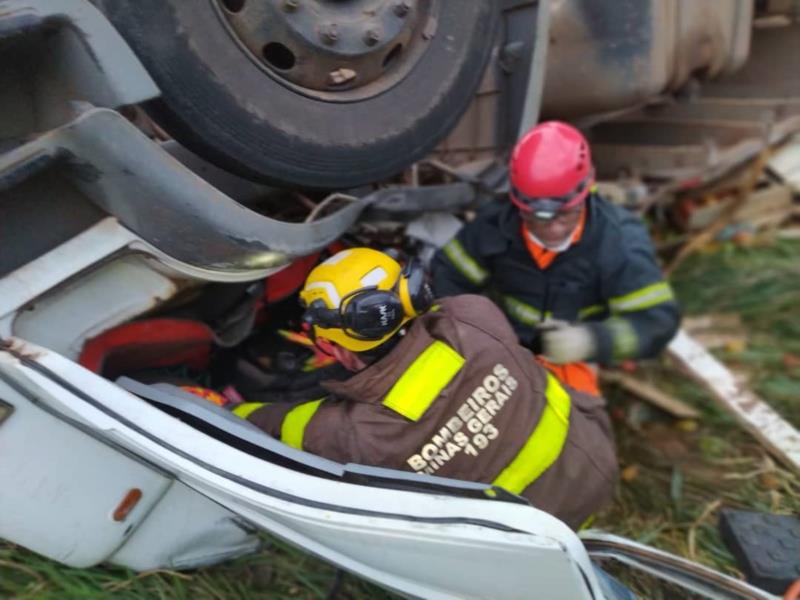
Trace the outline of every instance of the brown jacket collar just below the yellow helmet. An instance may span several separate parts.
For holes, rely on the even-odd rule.
[[[433,338],[425,329],[425,315],[417,317],[405,337],[389,354],[345,381],[324,381],[322,385],[339,398],[369,404],[380,403],[397,380],[411,366]]]

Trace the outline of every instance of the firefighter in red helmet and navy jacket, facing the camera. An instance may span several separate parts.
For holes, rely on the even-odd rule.
[[[509,183],[510,202],[482,208],[436,255],[437,296],[488,293],[524,345],[587,391],[597,386],[583,361],[658,354],[677,303],[642,222],[597,193],[583,135],[537,125],[514,148]]]

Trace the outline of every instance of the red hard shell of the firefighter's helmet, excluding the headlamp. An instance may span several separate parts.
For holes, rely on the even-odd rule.
[[[592,170],[586,138],[559,121],[540,123],[525,134],[515,146],[509,164],[512,188],[531,198],[567,196],[591,176]],[[577,205],[581,200],[570,204]]]

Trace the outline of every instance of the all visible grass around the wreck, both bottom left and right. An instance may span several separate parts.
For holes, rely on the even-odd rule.
[[[796,242],[724,246],[688,260],[673,284],[687,314],[740,315],[748,344],[719,357],[746,372],[762,398],[800,427],[798,257]],[[797,476],[666,360],[642,365],[637,376],[694,405],[702,418],[676,422],[617,389],[607,390],[623,480],[595,526],[740,576],[717,531],[719,511],[798,514]],[[265,538],[258,554],[190,573],[70,569],[0,545],[0,598],[316,599],[325,598],[335,581],[333,567],[272,538]],[[352,575],[340,583],[339,598],[394,597]],[[655,597],[651,590],[642,594]]]

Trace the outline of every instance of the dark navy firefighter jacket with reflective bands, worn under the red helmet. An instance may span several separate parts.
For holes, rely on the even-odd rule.
[[[540,269],[510,202],[483,207],[433,261],[437,296],[485,292],[503,308],[524,345],[545,318],[585,321],[602,365],[658,354],[680,312],[641,220],[597,194],[587,201],[581,239]]]

